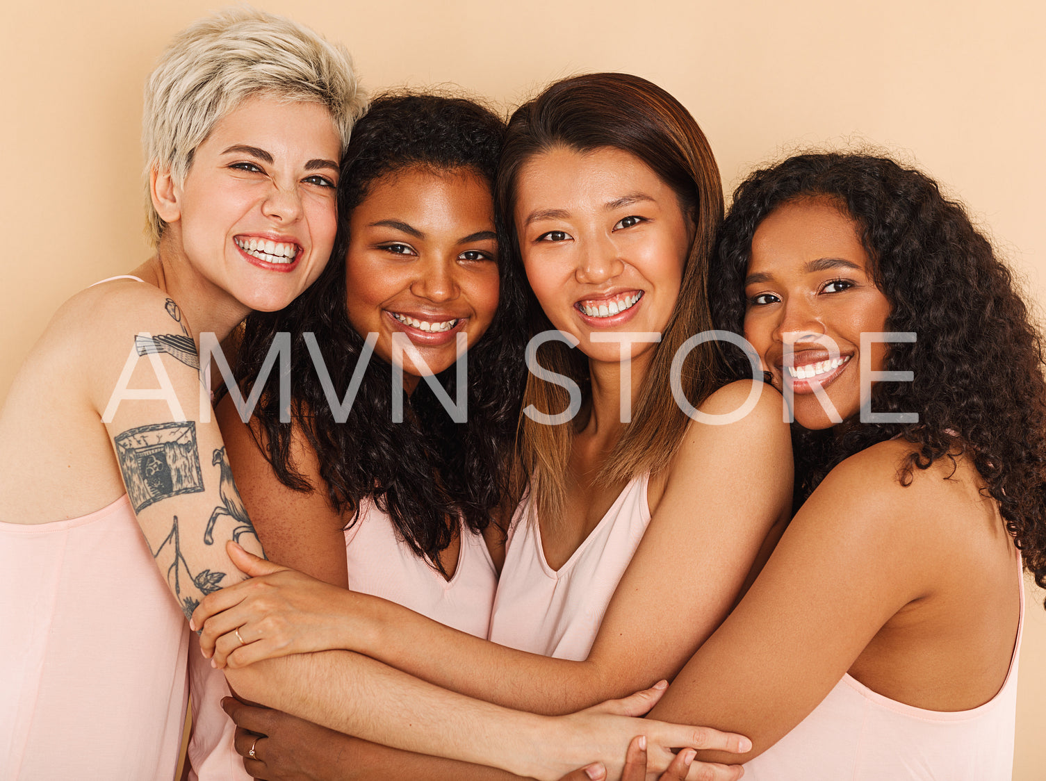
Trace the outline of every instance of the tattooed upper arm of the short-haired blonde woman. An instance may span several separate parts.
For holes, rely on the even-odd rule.
[[[262,553],[201,385],[197,345],[178,305],[144,285],[107,292],[88,364],[89,395],[157,567],[186,617],[241,579],[234,539]]]

